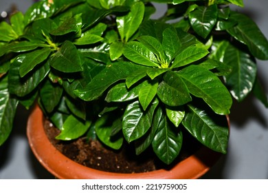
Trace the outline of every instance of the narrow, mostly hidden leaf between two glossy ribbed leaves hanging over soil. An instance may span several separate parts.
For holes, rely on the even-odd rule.
[[[157,110],[155,110],[155,114],[153,115],[153,122],[150,129],[148,130],[148,132],[146,132],[146,134],[144,134],[144,136],[135,141],[135,152],[137,155],[144,152],[144,150],[146,150],[152,143],[153,138],[155,137],[155,132],[157,131],[159,123],[162,119],[162,116],[163,111],[161,110],[161,108],[157,108]]]

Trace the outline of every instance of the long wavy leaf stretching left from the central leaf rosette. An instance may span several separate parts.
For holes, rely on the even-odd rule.
[[[126,79],[130,74],[139,69],[139,66],[129,62],[118,62],[104,68],[85,88],[74,92],[80,99],[92,101],[97,99],[113,83]]]

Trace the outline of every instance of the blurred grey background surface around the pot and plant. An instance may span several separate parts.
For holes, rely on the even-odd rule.
[[[0,13],[16,3],[22,12],[32,0],[0,0]],[[268,38],[268,1],[245,0],[241,10],[256,21]],[[160,6],[160,12],[164,7]],[[237,6],[233,9],[238,10]],[[268,61],[258,61],[261,81],[268,91]],[[0,179],[53,179],[34,158],[25,135],[28,112],[19,108],[10,139],[0,147]],[[268,110],[249,97],[231,110],[231,133],[228,152],[222,156],[203,179],[268,179]]]

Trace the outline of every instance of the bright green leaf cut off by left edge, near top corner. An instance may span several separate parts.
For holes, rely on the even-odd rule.
[[[12,41],[17,39],[18,35],[13,28],[5,21],[0,23],[0,41]]]

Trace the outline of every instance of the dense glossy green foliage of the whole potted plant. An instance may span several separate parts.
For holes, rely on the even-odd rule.
[[[167,11],[153,20],[154,2]],[[17,105],[38,103],[60,141],[172,165],[189,133],[225,154],[232,100],[252,92],[268,106],[255,60],[268,59],[267,39],[230,4],[243,1],[47,0],[12,15],[0,24],[0,144]]]

